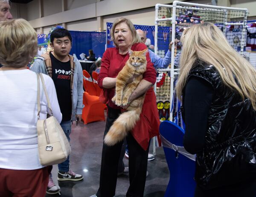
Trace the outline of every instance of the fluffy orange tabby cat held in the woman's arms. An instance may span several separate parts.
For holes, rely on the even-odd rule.
[[[143,51],[132,51],[129,49],[130,58],[116,77],[116,95],[112,99],[116,105],[124,106],[128,104],[129,97],[142,80],[143,73],[147,67],[146,52],[148,52],[148,49]],[[134,81],[127,84],[133,77]],[[105,144],[115,145],[127,136],[128,132],[133,129],[136,122],[140,119],[144,99],[145,93],[133,100],[128,106],[127,111],[115,120],[105,136]]]

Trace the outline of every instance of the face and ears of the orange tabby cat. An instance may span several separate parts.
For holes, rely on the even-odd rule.
[[[129,49],[130,64],[133,65],[134,67],[139,67],[142,64],[144,64],[147,61],[147,59],[146,59],[147,52],[148,52],[148,49],[145,49],[143,51],[132,51],[131,49]]]

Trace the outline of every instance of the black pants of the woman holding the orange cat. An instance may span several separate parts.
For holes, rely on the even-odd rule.
[[[108,118],[104,136],[120,114],[120,110],[108,107]],[[129,151],[130,187],[127,197],[143,197],[148,165],[148,149],[144,151],[131,134],[126,137]],[[113,197],[116,191],[118,163],[123,142],[108,146],[103,144],[99,190],[97,197]]]

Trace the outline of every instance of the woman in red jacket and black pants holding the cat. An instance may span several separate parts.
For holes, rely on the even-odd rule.
[[[104,89],[105,95],[107,95],[106,99],[108,100],[108,117],[104,136],[121,113],[122,108],[116,106],[111,99],[115,94],[116,76],[129,59],[128,50],[141,51],[147,48],[145,44],[140,43],[140,38],[136,33],[134,25],[127,18],[118,18],[114,21],[111,37],[116,47],[105,51],[98,78],[98,84]],[[156,96],[152,89],[156,81],[156,72],[148,53],[146,58],[147,70],[143,74],[143,80],[128,100],[128,102],[131,102],[138,96],[146,93],[140,121],[137,122],[126,138],[129,149],[130,179],[130,187],[126,196],[143,197],[148,164],[149,140],[159,132],[160,121],[156,106]],[[103,145],[100,185],[97,194],[93,195],[94,197],[112,197],[115,195],[118,161],[122,143],[119,142],[113,146]]]

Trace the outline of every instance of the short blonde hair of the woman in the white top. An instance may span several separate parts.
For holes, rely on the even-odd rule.
[[[20,68],[37,54],[37,34],[24,19],[0,22],[0,63]]]

